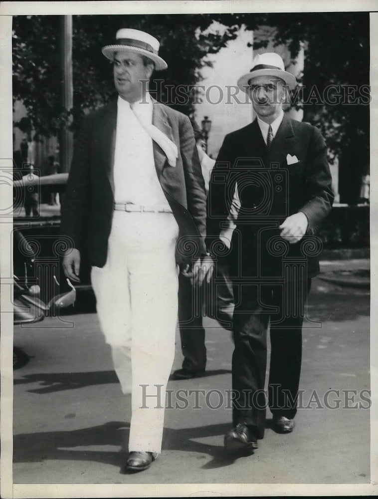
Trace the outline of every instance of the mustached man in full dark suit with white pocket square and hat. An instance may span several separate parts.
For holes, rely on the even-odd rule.
[[[333,203],[324,139],[282,109],[286,88],[295,85],[278,54],[254,58],[238,86],[257,119],[225,137],[210,179],[208,248],[219,243],[235,188],[241,203],[230,253],[239,299],[233,316],[233,429],[224,438],[229,450],[251,451],[264,435],[269,322],[273,427],[281,433],[294,428],[304,307],[311,277],[319,272],[315,234]]]

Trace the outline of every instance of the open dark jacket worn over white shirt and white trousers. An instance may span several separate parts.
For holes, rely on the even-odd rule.
[[[179,150],[177,165],[171,167],[153,141],[159,181],[180,228],[176,257],[182,263],[205,250],[204,182],[189,118],[156,101],[153,105],[153,124]],[[62,235],[70,238],[72,247],[87,249],[90,265],[99,267],[106,262],[113,218],[116,123],[117,101],[85,117],[75,141],[62,207]],[[185,244],[188,240],[190,245]]]

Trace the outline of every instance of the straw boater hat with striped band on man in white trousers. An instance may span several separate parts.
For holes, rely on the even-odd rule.
[[[102,53],[113,60],[114,52],[131,50],[154,61],[155,69],[167,69],[166,61],[158,55],[159,47],[160,43],[154,36],[139,29],[124,28],[117,31],[114,45],[106,45],[102,48]]]

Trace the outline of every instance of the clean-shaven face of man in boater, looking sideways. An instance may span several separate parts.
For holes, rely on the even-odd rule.
[[[119,95],[128,102],[135,102],[147,89],[152,75],[152,65],[144,65],[140,55],[132,51],[116,52],[113,59],[114,85]]]

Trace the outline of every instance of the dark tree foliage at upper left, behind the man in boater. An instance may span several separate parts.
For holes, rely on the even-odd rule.
[[[94,109],[115,93],[112,66],[101,47],[115,39],[122,27],[142,29],[161,43],[159,54],[168,69],[155,72],[151,88],[159,100],[170,100],[170,89],[188,87],[182,103],[173,107],[190,115],[205,56],[225,46],[237,35],[237,26],[222,33],[205,32],[212,16],[205,14],[74,15],[73,16],[73,108],[63,109],[60,97],[59,17],[15,16],[13,18],[13,100],[22,100],[27,118],[15,123],[23,131],[31,128],[38,136],[57,135],[69,114],[75,129],[85,110]],[[161,83],[159,80],[164,80]]]

